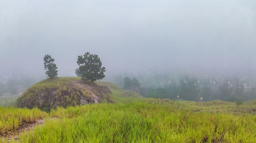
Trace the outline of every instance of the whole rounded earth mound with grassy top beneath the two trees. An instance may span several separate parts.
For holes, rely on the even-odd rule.
[[[16,102],[16,107],[37,107],[50,111],[56,107],[112,102],[108,87],[79,78],[56,78],[40,81],[29,88]]]

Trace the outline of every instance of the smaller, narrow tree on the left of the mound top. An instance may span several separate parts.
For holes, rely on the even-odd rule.
[[[57,77],[57,66],[54,64],[55,60],[51,57],[51,55],[47,54],[44,57],[44,65],[45,65],[45,70],[46,70],[46,77],[47,78],[55,78]]]

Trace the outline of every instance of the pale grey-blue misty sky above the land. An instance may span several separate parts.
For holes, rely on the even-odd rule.
[[[256,69],[256,1],[0,1],[0,74],[60,76],[96,53],[110,72]]]

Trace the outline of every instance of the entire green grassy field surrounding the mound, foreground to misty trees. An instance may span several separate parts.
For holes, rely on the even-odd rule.
[[[142,98],[139,94],[123,91],[110,82],[96,83],[111,90],[112,103],[57,107],[51,112],[36,108],[1,107],[0,140],[253,143],[256,141],[256,100],[237,106],[231,102],[217,100],[191,102]],[[10,136],[16,133],[17,128],[40,118],[45,120],[44,125],[20,133],[17,139],[10,140]],[[4,137],[8,134],[8,137]]]

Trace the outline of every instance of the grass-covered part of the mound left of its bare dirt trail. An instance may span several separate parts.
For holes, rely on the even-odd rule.
[[[87,90],[73,83],[74,80],[79,79],[79,77],[57,77],[37,82],[17,99],[14,106],[37,107],[49,112],[57,106],[79,105],[81,98],[89,99],[92,96]]]

